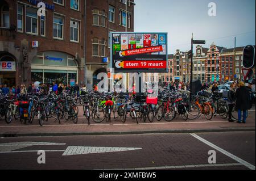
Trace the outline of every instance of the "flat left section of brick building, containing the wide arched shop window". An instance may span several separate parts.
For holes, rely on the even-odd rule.
[[[0,61],[13,65],[0,72],[0,82],[83,84],[85,1],[42,2],[45,16],[38,16],[38,1],[0,2]],[[32,41],[38,46],[33,48]]]

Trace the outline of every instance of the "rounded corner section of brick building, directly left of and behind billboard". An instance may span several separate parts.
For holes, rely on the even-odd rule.
[[[110,32],[134,30],[134,1],[89,0],[86,3],[86,76],[87,85],[96,84],[97,74],[107,72],[110,60]]]

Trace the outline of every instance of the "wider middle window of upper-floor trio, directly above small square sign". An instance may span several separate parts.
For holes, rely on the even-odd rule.
[[[36,9],[26,9],[26,32],[38,35],[38,11]]]

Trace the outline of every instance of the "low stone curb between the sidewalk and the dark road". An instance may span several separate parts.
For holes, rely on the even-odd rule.
[[[218,132],[255,132],[250,128],[223,128],[223,129],[171,129],[160,131],[130,131],[130,132],[65,132],[65,133],[1,133],[0,137],[34,137],[34,136],[103,136],[103,135],[129,135],[129,134],[159,134],[159,133],[218,133]]]

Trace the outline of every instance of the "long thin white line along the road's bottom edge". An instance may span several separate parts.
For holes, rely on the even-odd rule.
[[[158,166],[158,167],[141,167],[141,168],[135,168],[135,169],[102,169],[102,170],[163,170],[163,169],[187,169],[187,168],[195,169],[199,167],[221,167],[221,166],[242,166],[242,164],[241,163],[201,164],[201,165]]]

